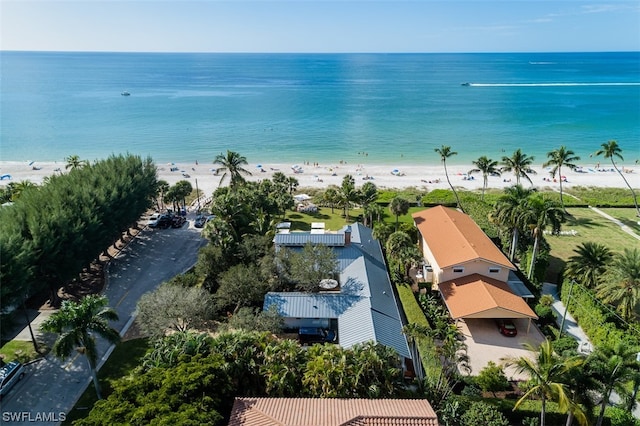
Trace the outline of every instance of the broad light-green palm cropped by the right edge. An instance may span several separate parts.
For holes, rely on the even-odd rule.
[[[615,255],[597,290],[603,302],[616,305],[624,319],[632,319],[640,302],[640,250],[625,248]]]

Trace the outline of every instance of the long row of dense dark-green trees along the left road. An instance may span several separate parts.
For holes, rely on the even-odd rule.
[[[151,159],[112,156],[51,176],[0,209],[0,297],[11,306],[58,289],[135,226],[156,193]]]

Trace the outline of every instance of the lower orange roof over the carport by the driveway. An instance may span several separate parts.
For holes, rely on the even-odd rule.
[[[535,318],[538,316],[509,285],[472,274],[438,285],[451,313],[458,318]]]

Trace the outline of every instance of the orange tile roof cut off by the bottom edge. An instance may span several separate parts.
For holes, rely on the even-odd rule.
[[[236,398],[229,426],[438,426],[426,399]]]

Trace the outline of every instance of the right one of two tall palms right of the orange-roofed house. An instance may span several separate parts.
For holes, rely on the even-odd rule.
[[[526,224],[533,234],[533,251],[528,274],[528,278],[531,279],[535,270],[540,240],[544,238],[545,229],[547,226],[551,226],[551,233],[557,235],[560,232],[561,223],[565,221],[565,215],[559,203],[544,197],[542,194],[535,194],[529,197],[525,202],[524,208],[522,223]]]

